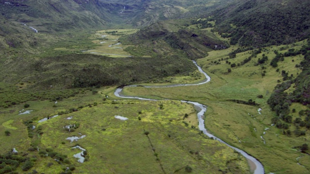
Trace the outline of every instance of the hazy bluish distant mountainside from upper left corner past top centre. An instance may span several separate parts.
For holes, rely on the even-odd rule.
[[[232,1],[232,0],[224,0]],[[220,1],[221,2],[221,1]],[[200,14],[212,0],[0,0],[0,12],[12,22],[40,32],[110,25],[149,26],[160,20]]]

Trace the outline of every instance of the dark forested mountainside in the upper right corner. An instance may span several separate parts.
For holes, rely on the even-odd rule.
[[[308,0],[240,0],[212,14],[217,24],[214,30],[231,37],[231,44],[288,44],[310,34]]]

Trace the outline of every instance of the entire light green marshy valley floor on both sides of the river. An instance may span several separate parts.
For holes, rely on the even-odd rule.
[[[58,47],[53,51],[93,52],[125,59],[134,55],[124,49],[134,45],[119,44],[118,38],[136,31],[101,30],[89,36],[93,47],[87,51],[81,46]],[[122,91],[124,96],[153,100],[117,97],[114,95],[115,85],[65,89],[58,92],[58,96],[49,92],[29,94],[29,98],[51,97],[25,99],[27,102],[1,108],[0,132],[10,132],[9,135],[0,135],[1,140],[5,140],[0,144],[1,154],[15,148],[18,151],[14,155],[16,158],[31,157],[25,158],[22,164],[29,161],[31,170],[46,174],[69,171],[107,174],[145,171],[154,174],[254,172],[252,163],[238,151],[214,140],[215,137],[205,135],[203,129],[206,128],[212,135],[259,160],[265,173],[306,174],[310,168],[310,157],[287,142],[297,145],[309,143],[309,135],[283,135],[271,122],[274,113],[267,99],[282,76],[267,65],[254,65],[263,54],[272,58],[275,56],[273,50],[285,53],[288,49],[300,48],[303,43],[266,47],[257,54],[256,59],[251,60],[251,64],[233,68],[232,63],[241,62],[252,52],[237,53],[228,64],[221,58],[228,57],[237,49],[236,46],[210,51],[207,57],[197,59],[197,64],[211,78],[208,83],[203,81],[203,73],[193,66],[191,73],[151,79],[136,86],[124,87]],[[143,58],[151,58],[151,55]],[[302,56],[295,56],[294,63],[291,59],[289,57],[279,62],[280,70],[294,75],[301,73],[295,64],[302,61]],[[138,58],[135,61],[138,62]],[[220,64],[217,63],[219,61]],[[80,61],[77,64],[83,63]],[[262,66],[265,69],[262,70]],[[227,73],[228,69],[232,71]],[[265,76],[262,76],[263,71]],[[18,83],[16,90],[21,92],[33,83],[38,82]],[[173,87],[165,87],[169,85]],[[1,90],[4,91],[4,88],[1,84]],[[258,98],[258,95],[263,95],[263,98]],[[27,96],[25,94],[24,98]],[[240,103],[249,100],[259,105]],[[205,113],[200,113],[201,117],[197,117],[199,109],[186,101],[201,103],[207,109]],[[29,104],[27,108],[25,103]],[[301,104],[294,104],[294,108],[297,111],[306,109]],[[29,113],[19,115],[25,111]],[[297,114],[293,116],[297,117]],[[199,121],[202,118],[204,122]],[[16,168],[16,171],[22,173],[23,169]]]

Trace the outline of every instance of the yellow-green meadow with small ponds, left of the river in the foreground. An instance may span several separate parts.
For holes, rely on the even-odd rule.
[[[1,153],[16,148],[20,154],[36,156],[38,160],[32,169],[46,174],[62,172],[65,164],[59,165],[50,157],[40,157],[36,150],[28,151],[30,144],[40,149],[53,148],[67,155],[76,168],[75,173],[162,173],[160,164],[166,173],[177,170],[180,170],[178,173],[186,173],[187,165],[195,173],[217,173],[218,170],[227,170],[228,166],[232,173],[248,172],[247,162],[240,154],[208,139],[197,129],[196,111],[191,104],[180,101],[115,101],[109,97],[114,89],[100,88],[97,94],[86,90],[84,94],[57,103],[28,102],[30,107],[27,110],[33,111],[26,115],[18,115],[22,104],[3,109],[0,131],[9,130],[11,135],[0,134],[3,140]],[[38,123],[39,119],[78,107],[76,112]],[[187,118],[185,114],[188,114]],[[115,115],[129,119],[119,120],[114,118]],[[70,116],[72,119],[67,119]],[[23,124],[30,119],[44,132],[35,134],[32,139]],[[72,132],[63,129],[70,124],[79,124],[79,128]],[[148,136],[145,131],[149,132]],[[73,143],[66,140],[67,137],[81,135],[86,137]],[[84,163],[73,157],[80,152],[71,148],[77,144],[87,150],[88,160]],[[48,167],[48,163],[53,165]]]

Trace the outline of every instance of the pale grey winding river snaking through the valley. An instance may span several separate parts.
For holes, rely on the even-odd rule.
[[[160,86],[160,87],[181,87],[181,86],[193,86],[193,85],[202,85],[205,83],[208,83],[211,78],[209,75],[207,75],[207,73],[205,73],[202,68],[200,66],[197,65],[197,63],[193,60],[193,63],[197,66],[198,70],[203,73],[203,75],[206,77],[202,82],[200,83],[196,83],[196,84],[176,84],[176,85],[167,85],[167,86]],[[125,87],[137,87],[137,85],[129,85],[129,86],[125,86]],[[144,87],[151,87],[151,86],[144,86]],[[158,87],[158,86],[157,86]],[[120,98],[126,98],[126,99],[139,99],[139,100],[148,100],[148,101],[157,101],[154,99],[147,99],[147,98],[140,98],[140,97],[135,97],[135,96],[125,96],[122,95],[122,90],[124,87],[118,87],[115,92],[114,95]],[[207,107],[201,103],[198,102],[188,102],[188,101],[181,101],[181,102],[186,102],[186,103],[191,103],[195,106],[197,106],[198,108],[200,108],[200,111],[197,113],[198,116],[198,122],[199,122],[199,130],[202,131],[205,135],[207,135],[210,138],[213,138],[217,141],[219,141],[220,143],[223,143],[231,148],[233,148],[234,150],[236,150],[237,152],[239,152],[240,154],[242,154],[245,158],[248,159],[249,164],[251,166],[251,169],[254,170],[254,174],[264,174],[264,168],[263,165],[260,161],[258,161],[257,159],[255,159],[254,157],[248,155],[245,151],[238,149],[232,145],[227,144],[226,142],[224,142],[223,140],[217,138],[216,136],[212,135],[211,133],[209,133],[204,126],[204,120],[203,120],[203,114],[206,112]]]

